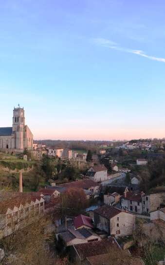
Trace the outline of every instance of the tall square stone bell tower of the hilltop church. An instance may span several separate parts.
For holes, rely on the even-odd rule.
[[[13,110],[13,137],[12,146],[16,149],[24,149],[23,146],[23,131],[25,125],[24,109],[18,104],[18,107]],[[14,147],[15,146],[15,147]]]

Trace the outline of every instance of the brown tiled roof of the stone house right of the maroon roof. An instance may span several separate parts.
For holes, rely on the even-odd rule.
[[[115,207],[112,207],[112,206],[103,205],[103,206],[95,209],[93,212],[98,214],[98,215],[101,215],[102,217],[110,219],[110,218],[116,216],[117,214],[121,213],[122,211],[115,208]]]

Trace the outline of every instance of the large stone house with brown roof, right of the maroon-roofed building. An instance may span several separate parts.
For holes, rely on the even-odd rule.
[[[135,216],[113,206],[104,205],[94,210],[94,226],[116,238],[131,235]]]

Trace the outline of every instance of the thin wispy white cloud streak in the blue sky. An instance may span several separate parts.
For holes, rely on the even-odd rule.
[[[153,61],[162,61],[162,62],[165,62],[165,58],[160,58],[160,57],[155,57],[155,56],[147,55],[147,54],[145,54],[144,51],[141,51],[141,50],[132,50],[132,49],[124,48],[124,47],[119,46],[114,41],[110,41],[110,40],[102,39],[102,38],[93,39],[93,41],[96,44],[101,45],[103,47],[107,47],[107,48],[114,49],[114,50],[121,51],[121,52],[133,53],[133,54],[136,54],[136,55],[145,57],[145,58],[147,58],[149,60],[153,60]]]

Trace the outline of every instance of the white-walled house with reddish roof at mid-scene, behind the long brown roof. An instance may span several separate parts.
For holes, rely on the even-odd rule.
[[[108,179],[107,168],[104,165],[94,165],[86,173],[87,177],[93,178],[94,182],[102,182]]]

